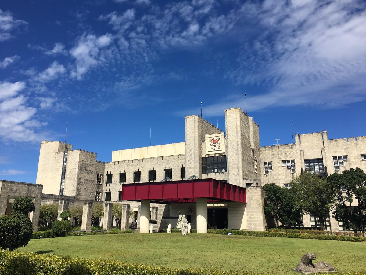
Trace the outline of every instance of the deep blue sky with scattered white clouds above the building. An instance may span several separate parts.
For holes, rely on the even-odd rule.
[[[245,109],[261,145],[366,135],[362,1],[16,1],[0,4],[0,178],[34,183],[42,140],[110,161],[224,130]]]

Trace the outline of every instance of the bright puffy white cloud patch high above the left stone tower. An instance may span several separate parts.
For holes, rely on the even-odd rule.
[[[112,43],[111,34],[102,36],[92,34],[83,34],[77,42],[77,45],[70,50],[70,54],[75,58],[76,66],[71,72],[71,77],[80,80],[83,75],[92,67],[102,64],[105,60],[102,58],[102,48]]]

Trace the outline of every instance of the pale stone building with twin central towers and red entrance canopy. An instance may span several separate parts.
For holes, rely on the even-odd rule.
[[[366,170],[365,136],[328,140],[324,131],[260,147],[259,126],[239,108],[225,110],[225,132],[198,115],[185,120],[185,142],[113,151],[111,162],[71,144],[43,141],[36,182],[44,186],[42,203],[89,202],[86,211],[93,201],[122,203],[135,214],[124,222],[137,223],[141,232],[149,220],[161,229],[175,227],[182,215],[198,232],[262,231],[273,226],[264,212],[264,184],[288,188],[303,172]],[[305,227],[316,222],[303,216]],[[329,230],[341,229],[331,217],[327,223]]]

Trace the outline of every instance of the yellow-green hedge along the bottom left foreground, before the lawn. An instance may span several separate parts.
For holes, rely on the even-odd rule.
[[[116,260],[93,260],[59,257],[49,254],[0,251],[2,275],[249,275],[248,272],[216,269],[180,269],[149,264],[123,263]]]

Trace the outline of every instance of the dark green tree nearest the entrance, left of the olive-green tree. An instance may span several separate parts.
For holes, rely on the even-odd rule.
[[[301,223],[302,211],[290,189],[279,187],[275,183],[265,184],[263,189],[268,202],[266,211],[279,220],[283,227],[285,224]]]

